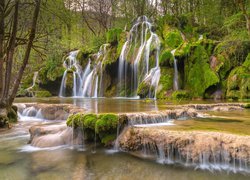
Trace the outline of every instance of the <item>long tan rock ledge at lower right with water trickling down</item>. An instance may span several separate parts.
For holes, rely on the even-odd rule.
[[[250,136],[219,132],[168,131],[156,128],[127,128],[119,137],[124,151],[163,152],[164,158],[206,164],[250,164]],[[146,147],[146,150],[145,150]],[[243,167],[244,166],[244,167]]]

